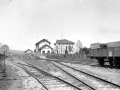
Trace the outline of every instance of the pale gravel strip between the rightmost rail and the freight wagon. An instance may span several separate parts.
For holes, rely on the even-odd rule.
[[[94,74],[96,76],[103,77],[109,81],[115,82],[120,84],[120,70],[118,69],[110,69],[110,68],[102,68],[102,67],[92,67],[88,65],[81,65],[81,64],[72,64],[72,63],[64,63],[63,64],[72,66],[78,70],[83,70]]]

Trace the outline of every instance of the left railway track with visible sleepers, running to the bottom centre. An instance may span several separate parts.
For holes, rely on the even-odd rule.
[[[85,85],[83,86],[82,83],[73,77],[68,76],[69,81],[66,81],[34,65],[26,64],[25,62],[18,62],[17,64],[42,84],[46,90],[92,90]]]

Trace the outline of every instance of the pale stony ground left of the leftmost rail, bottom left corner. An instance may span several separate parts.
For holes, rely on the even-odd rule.
[[[38,90],[41,88],[38,82],[23,69],[9,61],[10,58],[5,61],[6,77],[3,77],[3,72],[0,73],[0,90]],[[1,64],[3,65],[3,63]]]

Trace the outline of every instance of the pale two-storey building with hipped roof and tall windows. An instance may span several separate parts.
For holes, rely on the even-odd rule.
[[[74,42],[62,39],[62,40],[56,40],[55,45],[55,53],[57,54],[65,54],[65,50],[68,51],[68,53],[73,53],[73,46]]]

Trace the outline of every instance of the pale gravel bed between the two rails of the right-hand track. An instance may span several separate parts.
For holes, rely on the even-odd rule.
[[[61,67],[62,69],[66,70],[67,72],[71,73],[72,75],[76,76],[77,78],[81,79],[85,83],[88,83],[89,85],[93,86],[96,90],[119,90],[119,88],[113,87],[109,84],[106,84],[105,82],[101,82],[93,77],[90,77],[86,74],[83,74],[81,72],[75,71],[71,68],[68,68],[66,66],[63,66],[61,64],[58,64],[56,62],[53,62],[57,66]]]

